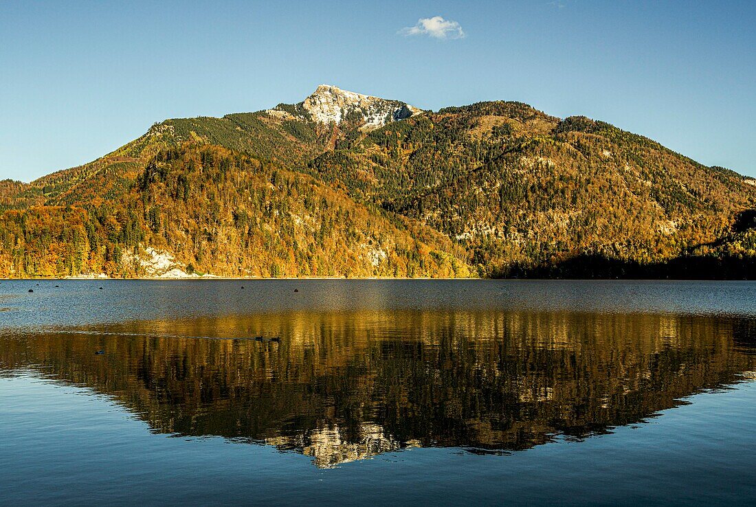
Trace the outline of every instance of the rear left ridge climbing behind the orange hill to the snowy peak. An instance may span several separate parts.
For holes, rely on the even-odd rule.
[[[419,112],[398,100],[321,85],[302,102],[278,104],[271,110],[234,113],[222,118],[166,119],[100,159],[54,172],[8,192],[8,202],[0,202],[0,206],[64,206],[84,204],[98,196],[113,198],[158,150],[187,141],[215,144],[262,162],[299,169],[345,138]],[[0,199],[3,193],[0,185]]]

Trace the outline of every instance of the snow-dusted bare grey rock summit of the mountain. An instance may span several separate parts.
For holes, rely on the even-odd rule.
[[[339,124],[343,121],[361,123],[361,128],[378,128],[386,123],[409,118],[423,110],[399,100],[387,100],[346,91],[332,85],[320,85],[309,97],[293,107],[283,105],[268,110],[271,116],[308,116],[315,122]],[[294,116],[294,115],[291,115]]]

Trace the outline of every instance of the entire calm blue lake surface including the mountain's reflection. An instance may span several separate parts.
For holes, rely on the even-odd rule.
[[[753,504],[754,429],[751,282],[0,283],[0,505]]]

